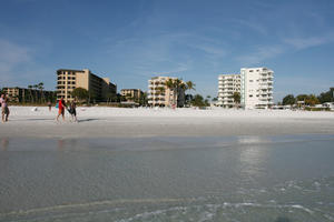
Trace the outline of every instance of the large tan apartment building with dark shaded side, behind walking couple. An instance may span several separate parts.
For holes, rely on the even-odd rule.
[[[96,101],[107,101],[117,93],[117,85],[109,78],[100,78],[88,69],[57,70],[57,99],[63,97],[66,101],[72,101],[71,92],[76,88],[88,90]]]

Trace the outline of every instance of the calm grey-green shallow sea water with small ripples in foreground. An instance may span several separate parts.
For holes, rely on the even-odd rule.
[[[0,221],[334,221],[334,135],[0,135]]]

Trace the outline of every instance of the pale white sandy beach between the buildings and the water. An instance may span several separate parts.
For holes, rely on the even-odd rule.
[[[78,108],[79,123],[57,123],[57,110],[11,107],[1,138],[219,137],[334,134],[334,112]]]

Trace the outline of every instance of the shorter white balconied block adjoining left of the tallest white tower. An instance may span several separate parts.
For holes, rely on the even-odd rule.
[[[218,77],[218,102],[223,108],[233,108],[236,104],[233,94],[240,93],[240,74],[220,74]]]

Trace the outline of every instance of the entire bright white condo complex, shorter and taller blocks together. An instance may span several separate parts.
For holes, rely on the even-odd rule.
[[[218,77],[218,105],[235,107],[234,92],[240,93],[244,109],[266,109],[273,105],[274,71],[267,68],[242,68],[240,74]]]

